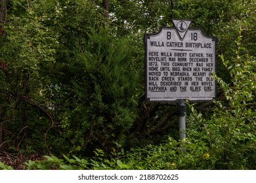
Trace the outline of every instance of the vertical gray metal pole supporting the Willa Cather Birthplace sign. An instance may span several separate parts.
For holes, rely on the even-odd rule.
[[[186,104],[179,102],[179,140],[186,138]]]

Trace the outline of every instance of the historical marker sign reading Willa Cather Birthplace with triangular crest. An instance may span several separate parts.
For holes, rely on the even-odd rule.
[[[146,100],[208,101],[216,96],[215,37],[189,28],[190,20],[173,20],[174,28],[161,27],[145,35]]]

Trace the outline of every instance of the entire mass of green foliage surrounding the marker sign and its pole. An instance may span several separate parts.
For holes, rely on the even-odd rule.
[[[255,1],[111,1],[108,20],[102,1],[7,3],[0,148],[56,154],[26,169],[255,169]],[[220,55],[219,100],[188,105],[184,142],[175,107],[143,101],[143,33],[171,18],[217,37]]]

